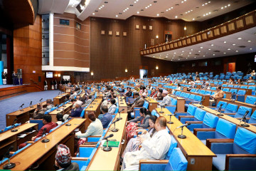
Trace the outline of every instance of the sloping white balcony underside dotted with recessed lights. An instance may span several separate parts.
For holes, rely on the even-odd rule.
[[[241,48],[239,46],[245,46],[245,48]],[[193,46],[178,48],[176,50],[166,51],[163,53],[154,53],[152,55],[148,55],[148,57],[178,62],[203,58],[233,56],[252,52],[256,52],[256,27],[221,38],[216,38],[212,41],[198,43]]]

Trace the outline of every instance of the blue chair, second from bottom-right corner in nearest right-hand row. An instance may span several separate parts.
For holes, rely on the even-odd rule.
[[[194,134],[201,140],[203,143],[206,143],[206,139],[228,139],[235,138],[236,125],[230,123],[228,120],[220,118],[216,125],[216,129],[201,129],[195,128]]]

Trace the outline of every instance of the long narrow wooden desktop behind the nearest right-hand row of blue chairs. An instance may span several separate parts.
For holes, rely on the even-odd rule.
[[[193,105],[196,105],[196,107],[199,106],[199,104],[193,104]],[[208,107],[206,107],[206,106],[205,106],[204,108],[201,108],[201,109],[206,110],[206,112],[212,113],[213,115],[219,114],[219,112],[217,112],[216,110],[213,110],[213,109],[208,108]],[[218,116],[218,115],[217,115],[217,116],[218,116],[219,118],[223,118],[223,119],[225,119],[225,120],[230,121],[230,123],[234,123],[234,124],[237,125],[238,127],[241,127],[241,126],[240,126],[240,120],[238,120],[237,118],[233,118],[233,117],[231,117],[231,116],[229,116],[229,115],[225,115],[225,113],[222,113],[222,114],[223,114],[223,116]],[[243,123],[243,122],[242,122],[242,123]],[[250,125],[249,123],[247,123],[247,124]],[[256,133],[256,126],[255,126],[255,125],[250,125],[250,127],[243,127],[243,128],[252,131],[252,133]]]

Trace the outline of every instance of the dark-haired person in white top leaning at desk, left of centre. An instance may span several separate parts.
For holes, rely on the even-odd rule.
[[[82,145],[86,141],[87,137],[89,137],[89,136],[101,136],[102,133],[103,133],[102,123],[99,119],[96,118],[95,114],[94,113],[89,113],[88,118],[92,123],[90,123],[86,132],[85,133],[79,133],[79,132],[75,133],[75,138],[80,138],[78,140],[78,147],[79,147],[79,145]]]

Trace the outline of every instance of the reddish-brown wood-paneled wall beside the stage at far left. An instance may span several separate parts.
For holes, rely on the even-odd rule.
[[[23,83],[31,83],[31,78],[38,81],[38,76],[42,76],[42,19],[40,15],[36,16],[33,25],[14,29],[14,71],[17,72],[19,68],[22,69]]]

